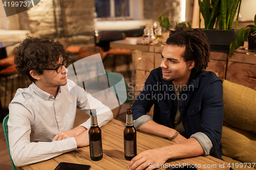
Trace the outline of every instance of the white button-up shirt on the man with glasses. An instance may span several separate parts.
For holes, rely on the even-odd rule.
[[[58,88],[56,98],[34,83],[19,88],[9,105],[10,153],[16,166],[44,161],[77,149],[74,137],[52,141],[58,131],[73,129],[76,108],[90,115],[96,109],[99,127],[113,118],[109,107],[96,100],[84,89],[76,88],[77,96],[67,85]],[[90,118],[80,126],[90,129]]]

